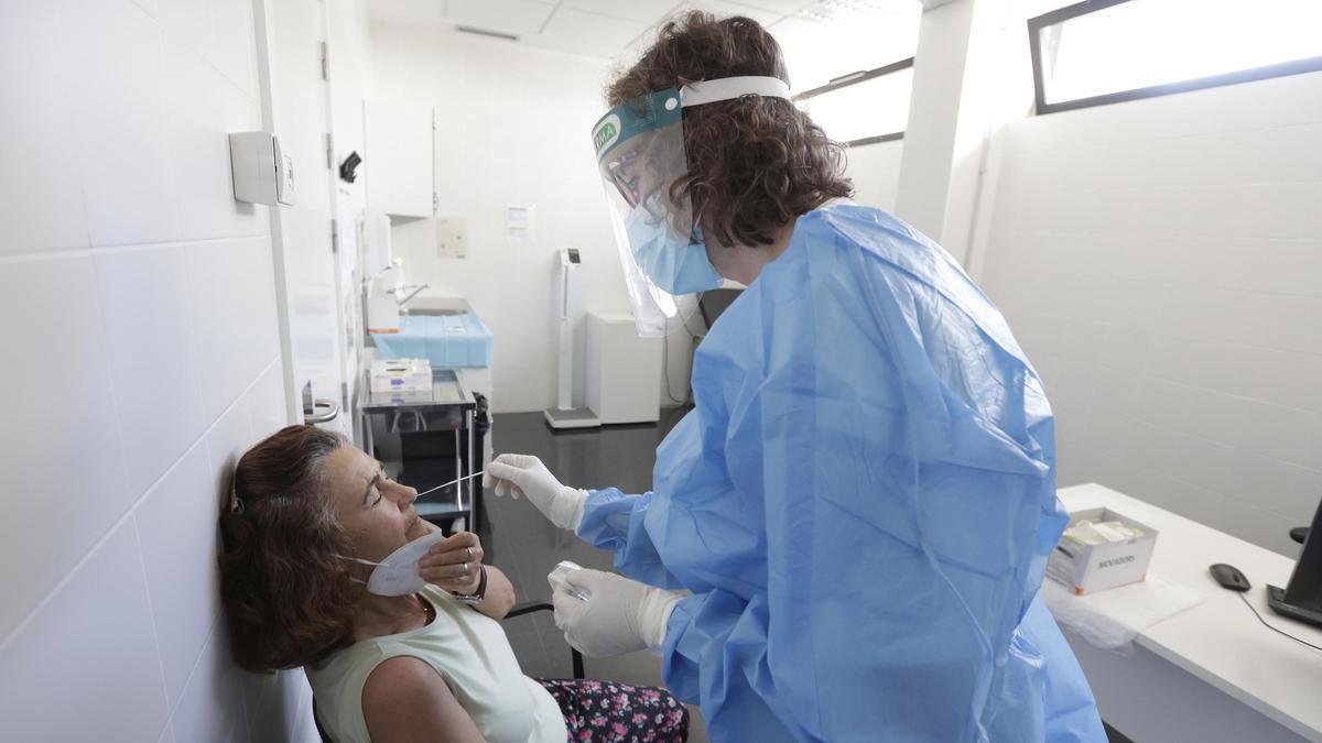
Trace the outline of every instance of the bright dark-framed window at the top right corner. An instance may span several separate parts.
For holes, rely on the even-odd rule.
[[[1038,114],[1322,70],[1319,0],[1092,0],[1029,21]]]

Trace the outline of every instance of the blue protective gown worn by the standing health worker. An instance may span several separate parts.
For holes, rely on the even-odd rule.
[[[954,260],[876,209],[798,219],[693,362],[653,492],[579,534],[694,592],[666,685],[714,740],[1104,742],[1036,598],[1066,516],[1051,409]]]

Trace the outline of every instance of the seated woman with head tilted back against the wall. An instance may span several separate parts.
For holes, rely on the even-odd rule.
[[[514,588],[481,565],[475,534],[431,546],[422,590],[378,595],[390,591],[371,565],[438,530],[416,497],[312,426],[249,450],[221,517],[237,662],[304,666],[336,743],[687,739],[687,711],[665,690],[525,677],[497,624]]]

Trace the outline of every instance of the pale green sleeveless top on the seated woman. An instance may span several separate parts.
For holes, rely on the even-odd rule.
[[[524,676],[500,623],[435,586],[422,595],[436,608],[430,624],[361,640],[305,669],[330,738],[370,743],[362,717],[368,676],[382,661],[411,656],[436,669],[490,743],[564,743],[568,734],[559,705]]]

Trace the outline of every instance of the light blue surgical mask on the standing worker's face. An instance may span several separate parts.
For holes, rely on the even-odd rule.
[[[701,231],[699,239],[690,242],[642,206],[633,209],[624,227],[639,268],[657,288],[680,296],[720,287],[723,279],[707,258]]]

